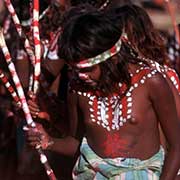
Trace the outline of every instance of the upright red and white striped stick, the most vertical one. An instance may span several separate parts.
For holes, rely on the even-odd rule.
[[[34,86],[33,92],[39,89],[39,76],[41,73],[41,43],[39,37],[39,0],[33,1],[33,37],[35,48]]]

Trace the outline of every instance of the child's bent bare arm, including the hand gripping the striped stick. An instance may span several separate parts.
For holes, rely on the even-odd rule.
[[[30,145],[33,147],[40,145],[43,149],[55,151],[63,155],[75,155],[79,147],[79,140],[74,138],[77,133],[78,126],[77,99],[76,94],[68,95],[70,131],[67,137],[50,137],[41,125],[37,125],[38,131],[35,131],[32,128],[28,131],[28,140],[30,141]],[[32,107],[30,109],[32,109]]]

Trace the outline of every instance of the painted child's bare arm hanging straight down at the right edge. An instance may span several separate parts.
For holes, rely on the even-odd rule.
[[[149,81],[150,99],[157,118],[169,143],[169,151],[165,158],[161,180],[175,179],[180,167],[180,122],[172,91],[167,81],[160,75]]]

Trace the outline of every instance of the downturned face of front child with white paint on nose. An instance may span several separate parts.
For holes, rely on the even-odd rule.
[[[79,78],[90,86],[97,86],[100,75],[101,70],[99,65],[94,65],[89,68],[78,69]]]

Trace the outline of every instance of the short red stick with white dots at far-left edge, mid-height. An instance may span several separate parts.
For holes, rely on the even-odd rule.
[[[3,82],[4,86],[6,87],[6,89],[10,92],[10,94],[11,94],[12,98],[14,99],[15,103],[17,104],[17,106],[20,108],[21,107],[20,99],[19,99],[16,91],[14,90],[13,86],[10,84],[8,78],[3,73],[2,69],[0,69],[0,79]]]

